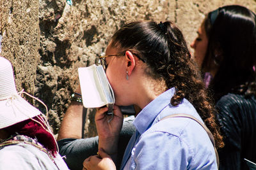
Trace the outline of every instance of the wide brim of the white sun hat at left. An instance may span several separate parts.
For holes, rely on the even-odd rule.
[[[15,97],[0,101],[0,129],[40,114],[42,113],[28,101],[15,95]]]

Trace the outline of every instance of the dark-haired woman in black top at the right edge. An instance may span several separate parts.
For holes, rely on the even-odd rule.
[[[211,11],[191,43],[218,110],[225,147],[220,169],[256,162],[256,16],[243,6]]]

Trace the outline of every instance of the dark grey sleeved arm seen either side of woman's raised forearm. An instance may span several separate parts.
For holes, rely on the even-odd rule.
[[[122,162],[122,157],[125,148],[132,134],[135,132],[135,127],[132,125],[134,117],[127,117],[124,120],[120,138],[118,141],[118,160],[116,161],[116,169],[119,169]],[[58,141],[60,155],[65,156],[65,162],[72,170],[83,169],[84,159],[97,155],[98,152],[98,137],[85,139],[61,139]]]

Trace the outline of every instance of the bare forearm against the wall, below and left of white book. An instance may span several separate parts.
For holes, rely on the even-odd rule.
[[[72,101],[61,122],[58,139],[81,138],[82,133],[83,104]]]

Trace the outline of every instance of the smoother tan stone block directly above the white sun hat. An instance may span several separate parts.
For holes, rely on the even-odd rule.
[[[40,61],[38,5],[38,0],[0,1],[0,55],[13,64],[17,89],[31,94]]]

